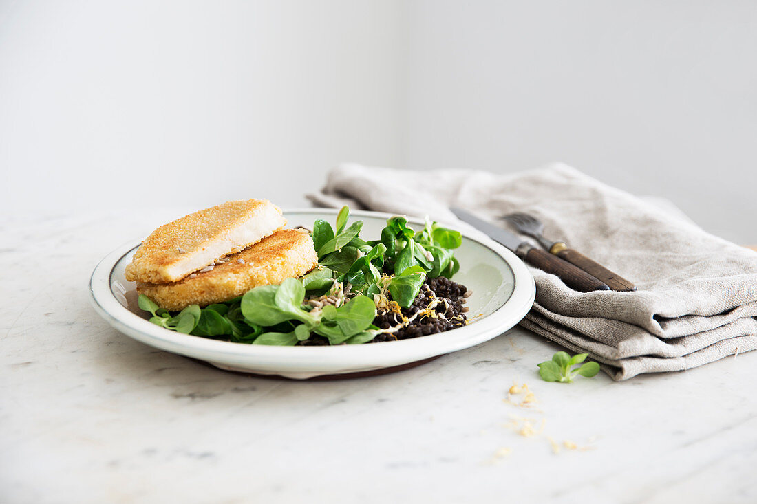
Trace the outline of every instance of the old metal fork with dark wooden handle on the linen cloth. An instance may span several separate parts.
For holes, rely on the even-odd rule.
[[[544,238],[544,223],[536,217],[522,212],[509,213],[502,217],[518,229],[522,235],[528,235],[534,238],[539,244],[560,259],[578,266],[585,272],[606,283],[613,291],[629,292],[635,291],[636,286],[628,282],[615,272],[610,271],[597,261],[591,260],[577,250],[569,248],[563,241],[550,241]]]

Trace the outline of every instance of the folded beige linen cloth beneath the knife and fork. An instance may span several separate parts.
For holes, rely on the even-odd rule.
[[[347,203],[447,223],[459,222],[450,206],[493,222],[514,211],[531,213],[548,238],[637,285],[635,292],[581,293],[531,268],[536,302],[521,325],[589,353],[616,380],[757,348],[757,253],[570,166],[497,175],[344,164],[309,198],[319,206]]]

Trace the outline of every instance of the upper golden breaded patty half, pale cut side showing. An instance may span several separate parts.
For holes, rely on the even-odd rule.
[[[142,241],[124,276],[129,282],[177,282],[285,225],[270,201],[226,201],[160,226]]]

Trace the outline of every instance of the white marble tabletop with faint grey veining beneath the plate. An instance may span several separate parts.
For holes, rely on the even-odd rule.
[[[558,348],[513,328],[372,378],[223,372],[89,304],[98,260],[179,214],[0,224],[0,502],[757,502],[757,352],[551,384]]]

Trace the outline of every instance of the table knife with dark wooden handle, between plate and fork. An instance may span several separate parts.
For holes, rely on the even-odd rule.
[[[574,266],[554,254],[536,248],[528,243],[528,241],[523,241],[519,236],[494,226],[490,222],[479,219],[462,208],[453,207],[450,210],[458,219],[467,222],[475,229],[478,229],[478,231],[484,232],[484,234],[494,241],[503,244],[509,250],[515,252],[516,256],[520,257],[525,263],[556,275],[569,288],[579,292],[609,291],[607,284],[600,282],[597,278],[578,268],[578,266]]]

